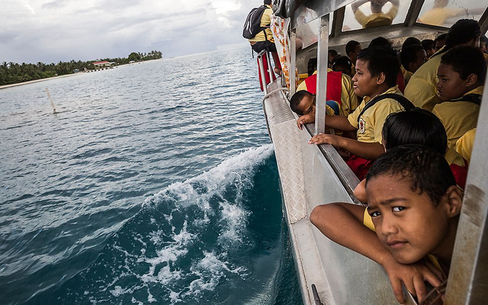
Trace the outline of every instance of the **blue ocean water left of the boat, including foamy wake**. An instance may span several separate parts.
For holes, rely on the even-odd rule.
[[[256,72],[245,48],[0,90],[0,303],[300,304]]]

